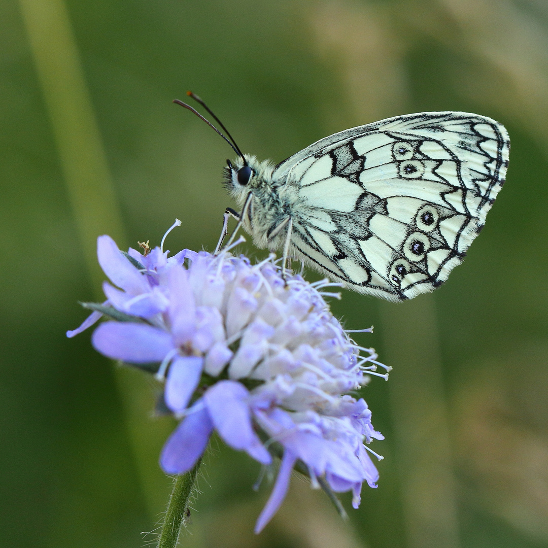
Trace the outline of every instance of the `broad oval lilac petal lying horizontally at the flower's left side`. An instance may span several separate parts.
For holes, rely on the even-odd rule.
[[[106,322],[92,335],[95,350],[128,363],[161,362],[173,349],[172,338],[157,327],[144,323]]]

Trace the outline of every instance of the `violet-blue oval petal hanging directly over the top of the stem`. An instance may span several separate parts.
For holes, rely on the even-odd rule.
[[[201,403],[201,400],[196,402],[196,407]],[[212,431],[213,423],[205,407],[187,415],[162,449],[160,465],[164,472],[182,474],[189,471],[206,450]]]

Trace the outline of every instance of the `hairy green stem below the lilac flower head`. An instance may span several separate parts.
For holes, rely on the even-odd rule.
[[[165,512],[162,533],[158,540],[158,548],[175,548],[177,546],[181,526],[189,506],[190,494],[201,464],[202,459],[198,459],[192,470],[177,476],[175,479],[168,509]]]

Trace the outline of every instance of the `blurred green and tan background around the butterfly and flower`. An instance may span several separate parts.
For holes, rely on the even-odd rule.
[[[280,161],[339,130],[425,110],[509,130],[507,184],[464,265],[404,304],[344,292],[358,343],[393,366],[363,395],[386,440],[343,523],[294,478],[270,486],[215,441],[182,546],[548,546],[546,0],[0,2],[0,546],[153,543],[173,427],[158,387],[68,340],[98,298],[95,238],[212,250],[231,150],[172,104],[187,89],[244,152]],[[248,244],[246,244],[248,246]],[[265,252],[244,247],[264,257]],[[145,534],[145,533],[149,534]]]

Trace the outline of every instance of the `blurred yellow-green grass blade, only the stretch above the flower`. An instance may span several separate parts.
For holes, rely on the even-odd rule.
[[[125,236],[92,102],[62,0],[19,0],[38,79],[59,151],[85,263],[95,290],[104,279],[96,238]]]

